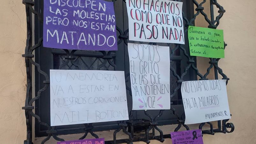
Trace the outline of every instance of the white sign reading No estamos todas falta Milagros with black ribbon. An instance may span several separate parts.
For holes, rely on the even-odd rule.
[[[230,119],[226,80],[187,81],[181,84],[185,124]]]

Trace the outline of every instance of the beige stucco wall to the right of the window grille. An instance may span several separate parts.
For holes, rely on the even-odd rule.
[[[226,10],[218,29],[224,30],[224,41],[228,44],[219,67],[230,78],[227,92],[232,114],[230,122],[235,125],[235,131],[204,135],[203,139],[206,144],[256,143],[256,1],[218,0],[218,3]],[[205,60],[200,62],[199,68],[209,65],[208,59]]]

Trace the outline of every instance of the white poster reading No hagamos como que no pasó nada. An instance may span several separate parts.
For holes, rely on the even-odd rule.
[[[129,40],[184,44],[182,2],[127,0]]]

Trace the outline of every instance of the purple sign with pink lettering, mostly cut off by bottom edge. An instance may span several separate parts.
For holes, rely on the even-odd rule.
[[[86,139],[86,140],[70,140],[60,141],[57,144],[105,144],[104,138],[99,139]]]

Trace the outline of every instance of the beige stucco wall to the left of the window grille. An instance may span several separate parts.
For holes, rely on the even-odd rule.
[[[0,3],[0,140],[22,144],[26,138],[24,106],[26,13],[21,0]]]

